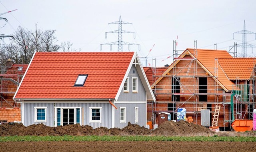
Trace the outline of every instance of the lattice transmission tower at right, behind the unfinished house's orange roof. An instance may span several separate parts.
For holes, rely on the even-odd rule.
[[[238,31],[238,32],[234,32],[233,33],[233,39],[234,39],[234,34],[235,33],[242,34],[242,43],[237,44],[237,47],[242,47],[242,57],[247,57],[247,47],[253,48],[253,47],[256,47],[256,46],[247,43],[246,34],[255,34],[255,39],[256,39],[256,33],[250,32],[250,31],[246,30],[245,20],[244,20],[244,28],[243,28],[243,30],[242,31]]]

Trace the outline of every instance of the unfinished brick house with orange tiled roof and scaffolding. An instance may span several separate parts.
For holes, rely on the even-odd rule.
[[[164,72],[152,67],[150,78],[144,69],[156,97],[156,102],[148,103],[148,120],[160,125],[160,113],[177,120],[178,110],[186,109],[186,117],[196,124],[230,130],[235,119],[252,119],[256,58],[234,58],[225,50],[196,48],[174,53],[174,62]],[[205,110],[210,111],[206,124]]]

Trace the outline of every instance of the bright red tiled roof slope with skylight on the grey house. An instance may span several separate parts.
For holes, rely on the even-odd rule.
[[[15,99],[114,99],[134,52],[36,52]],[[83,87],[78,75],[88,74]]]

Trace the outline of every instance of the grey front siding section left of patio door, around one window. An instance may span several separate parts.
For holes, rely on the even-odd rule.
[[[24,126],[29,126],[32,124],[39,124],[43,123],[46,126],[54,126],[54,104],[53,103],[24,103],[23,110],[24,110]],[[35,109],[34,107],[47,107],[46,111],[46,122],[35,122],[34,121],[34,114]]]

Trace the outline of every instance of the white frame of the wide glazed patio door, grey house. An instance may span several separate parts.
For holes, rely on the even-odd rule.
[[[54,107],[55,109],[55,122],[54,122],[54,125],[57,126],[57,109],[60,109],[60,125],[63,126],[63,122],[62,122],[62,119],[63,119],[63,111],[62,109],[74,109],[74,124],[80,124],[82,125],[82,107]],[[80,120],[79,120],[79,123],[76,122],[76,109],[80,109]]]

